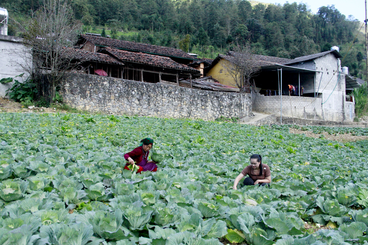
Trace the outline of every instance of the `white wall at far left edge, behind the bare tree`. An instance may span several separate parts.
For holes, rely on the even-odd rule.
[[[14,78],[17,75],[24,73],[24,70],[19,64],[26,64],[31,61],[26,59],[22,55],[24,54],[24,45],[22,39],[19,37],[0,35],[0,79]],[[25,73],[23,78],[16,78],[18,81],[23,82],[28,78],[29,74]],[[6,90],[11,88],[10,83],[0,83],[0,96],[5,96]]]

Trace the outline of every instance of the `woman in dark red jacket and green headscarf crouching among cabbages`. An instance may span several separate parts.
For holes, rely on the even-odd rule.
[[[153,140],[151,138],[144,138],[141,140],[141,145],[139,147],[124,155],[125,160],[128,161],[124,169],[130,170],[128,166],[135,164],[139,166],[137,173],[141,173],[142,171],[156,172],[156,163],[153,161],[147,161],[149,150],[152,148],[152,145]]]

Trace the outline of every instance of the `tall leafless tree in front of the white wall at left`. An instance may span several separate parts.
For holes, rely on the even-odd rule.
[[[20,24],[24,36],[25,54],[32,54],[22,68],[39,78],[47,74],[51,85],[51,99],[64,73],[77,66],[77,43],[80,25],[74,21],[67,0],[44,0],[43,6],[33,13],[25,24]],[[70,47],[70,48],[68,48]]]

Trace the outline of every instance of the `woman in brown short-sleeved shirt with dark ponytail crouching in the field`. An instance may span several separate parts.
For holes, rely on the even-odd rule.
[[[237,185],[244,176],[249,175],[245,178],[244,185],[270,185],[271,183],[271,171],[270,168],[262,164],[262,157],[258,154],[253,154],[250,158],[250,165],[245,167],[243,171],[235,178],[233,189],[237,190]]]

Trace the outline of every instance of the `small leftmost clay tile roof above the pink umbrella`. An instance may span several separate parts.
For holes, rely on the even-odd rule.
[[[121,62],[117,58],[111,57],[108,54],[95,53],[82,49],[67,48],[66,55],[68,54],[76,60],[97,61],[101,63],[124,65],[123,62]]]

